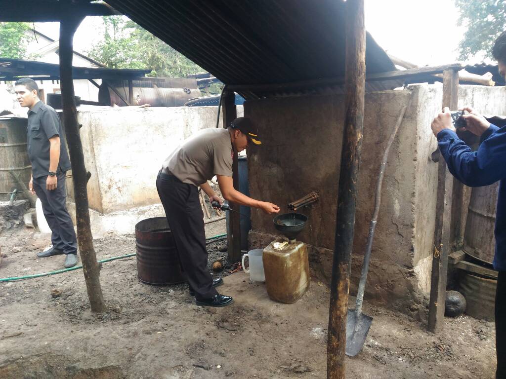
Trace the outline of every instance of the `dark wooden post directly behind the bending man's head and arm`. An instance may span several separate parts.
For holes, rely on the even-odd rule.
[[[229,127],[236,117],[235,93],[226,91],[223,94],[223,127]],[[232,174],[234,188],[239,191],[239,165],[235,150],[233,153]],[[232,209],[239,210],[239,204],[230,203],[230,206]],[[228,212],[229,233],[227,235],[227,255],[229,263],[241,260],[241,226],[239,217],[240,215],[236,212]]]

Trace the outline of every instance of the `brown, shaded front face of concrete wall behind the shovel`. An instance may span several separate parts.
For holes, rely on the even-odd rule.
[[[369,221],[374,207],[374,187],[379,163],[403,105],[411,91],[368,93],[366,97],[362,164],[356,215],[353,274],[360,275]],[[387,301],[396,294],[412,293],[408,279],[413,264],[413,204],[416,151],[416,107],[410,107],[390,151],[385,173],[379,222],[373,245],[369,295]],[[310,191],[320,202],[302,210],[309,216],[299,240],[311,245],[312,267],[329,280],[341,161],[344,97],[301,97],[245,103],[244,114],[259,124],[264,145],[249,152],[249,189],[254,198],[286,204]],[[273,126],[275,125],[275,127]],[[250,240],[266,245],[275,234],[272,217],[252,211]],[[376,262],[381,262],[376,263]],[[374,267],[378,269],[375,270]],[[354,280],[354,282],[356,282]],[[378,285],[378,286],[376,286]],[[408,288],[409,287],[409,288]],[[353,287],[352,287],[353,292]]]

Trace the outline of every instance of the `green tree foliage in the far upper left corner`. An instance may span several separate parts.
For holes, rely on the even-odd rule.
[[[30,24],[25,22],[0,22],[0,57],[22,59],[26,53],[26,34]]]

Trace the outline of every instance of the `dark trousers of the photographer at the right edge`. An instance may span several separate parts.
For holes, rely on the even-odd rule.
[[[499,271],[495,293],[495,379],[506,379],[506,271]]]

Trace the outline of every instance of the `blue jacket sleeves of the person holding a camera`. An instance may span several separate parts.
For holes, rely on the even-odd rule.
[[[490,125],[476,152],[449,129],[441,130],[437,138],[448,169],[462,183],[479,187],[506,177],[506,127]]]

